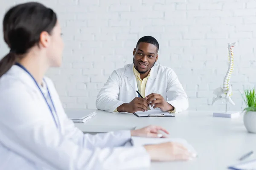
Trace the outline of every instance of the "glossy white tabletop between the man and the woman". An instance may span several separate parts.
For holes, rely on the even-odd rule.
[[[152,162],[150,170],[227,170],[245,153],[256,152],[256,134],[245,129],[243,114],[231,119],[213,117],[209,111],[185,111],[175,117],[138,118],[130,113],[96,112],[95,117],[76,126],[83,132],[108,132],[160,125],[170,132],[170,137],[186,139],[198,152],[193,161]],[[255,155],[245,161],[256,159]]]

